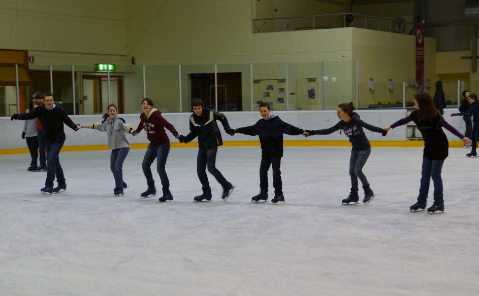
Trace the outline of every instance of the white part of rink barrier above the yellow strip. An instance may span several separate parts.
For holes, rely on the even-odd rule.
[[[458,129],[461,133],[464,132],[464,121],[460,117],[451,118],[450,115],[453,112],[457,112],[456,109],[445,110],[444,118],[448,121],[453,127]],[[329,128],[335,125],[338,122],[335,111],[290,111],[290,112],[272,112],[276,114],[283,121],[288,122],[292,125],[295,125],[303,129],[323,129]],[[361,116],[361,119],[365,122],[378,126],[385,127],[393,124],[397,120],[404,118],[406,116],[406,110],[359,110],[358,114]],[[226,112],[225,115],[228,118],[231,127],[238,128],[253,125],[258,120],[261,119],[259,112]],[[173,124],[180,134],[187,134],[189,132],[189,113],[165,113],[163,114],[166,120]],[[139,114],[128,114],[121,115],[126,122],[130,123],[132,127],[136,128],[140,123]],[[73,122],[82,125],[90,125],[95,122],[101,122],[102,118],[99,115],[75,115],[71,116]],[[10,121],[10,118],[0,118],[0,138],[2,139],[0,143],[0,149],[16,149],[16,148],[26,148],[25,140],[21,138],[23,127],[23,121]],[[69,127],[65,126],[65,131],[67,134],[67,140],[65,142],[66,146],[88,146],[88,145],[103,145],[107,143],[106,133],[102,133],[95,130],[82,129],[80,131],[73,131]],[[449,140],[459,140],[456,136],[451,134],[449,131],[445,131]],[[177,141],[172,134],[167,131],[167,134],[170,136],[172,142]],[[374,141],[391,141],[391,140],[406,140],[406,127],[398,127],[389,132],[386,137],[382,137],[378,133],[373,133],[366,130],[366,134],[369,140]],[[251,141],[258,140],[259,138],[236,134],[231,137],[230,135],[222,132],[223,141]],[[129,137],[132,143],[147,143],[148,140],[144,132],[141,132],[140,135],[136,137]],[[326,136],[312,136],[305,138],[303,136],[289,136],[284,135],[285,140],[344,140],[347,141],[347,138],[344,134],[339,134],[335,132]]]

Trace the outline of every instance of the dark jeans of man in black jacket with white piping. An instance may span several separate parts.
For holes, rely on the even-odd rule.
[[[229,182],[223,177],[221,172],[216,168],[216,152],[218,147],[198,150],[198,158],[196,161],[196,172],[198,178],[200,179],[203,193],[211,193],[210,183],[208,181],[208,176],[206,175],[206,168],[208,171],[216,178],[216,180],[221,184],[223,190],[228,189]]]

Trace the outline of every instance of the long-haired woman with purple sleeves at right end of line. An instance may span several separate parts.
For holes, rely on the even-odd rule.
[[[434,203],[427,209],[428,213],[444,211],[444,199],[442,193],[441,171],[444,160],[448,157],[449,141],[442,127],[461,138],[464,143],[470,143],[470,139],[447,123],[434,106],[433,100],[428,93],[414,95],[414,110],[409,116],[398,120],[385,129],[389,131],[401,125],[414,122],[424,139],[423,164],[421,172],[421,186],[419,188],[418,202],[410,206],[411,211],[424,210],[427,204],[429,183],[434,183]]]

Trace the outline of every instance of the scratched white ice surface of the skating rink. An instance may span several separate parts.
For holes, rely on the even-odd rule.
[[[268,202],[250,202],[260,147],[219,147],[236,188],[222,201],[208,174],[213,199],[202,203],[197,149],[170,151],[170,203],[139,198],[143,149],[126,158],[121,197],[109,151],[61,153],[68,189],[51,196],[28,155],[3,155],[0,295],[479,295],[479,160],[468,152],[450,149],[444,163],[443,214],[409,211],[422,148],[373,147],[366,206],[341,205],[350,147],[285,147],[278,205],[271,170]],[[428,206],[432,192],[431,182]]]

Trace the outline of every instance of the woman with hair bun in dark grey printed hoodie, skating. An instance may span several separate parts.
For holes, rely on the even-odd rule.
[[[380,127],[375,127],[365,123],[360,119],[359,115],[354,112],[354,109],[355,107],[352,102],[339,104],[336,110],[336,115],[340,121],[335,126],[322,130],[306,130],[306,133],[308,136],[312,136],[329,135],[337,130],[344,132],[344,135],[349,138],[349,142],[353,144],[353,150],[351,151],[351,157],[349,158],[351,191],[349,192],[349,196],[342,200],[342,204],[357,203],[359,201],[359,178],[364,189],[363,203],[367,205],[376,195],[371,190],[366,175],[363,173],[363,167],[366,164],[369,155],[371,155],[371,144],[369,143],[363,128],[372,132],[381,133],[382,136],[385,136],[387,131]]]

